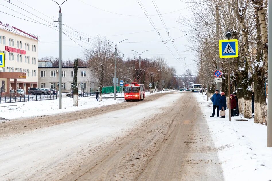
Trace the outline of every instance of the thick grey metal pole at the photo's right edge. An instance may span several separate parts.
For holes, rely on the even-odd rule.
[[[268,101],[267,101],[267,147],[272,147],[272,2],[268,2]],[[269,48],[270,47],[270,48]]]

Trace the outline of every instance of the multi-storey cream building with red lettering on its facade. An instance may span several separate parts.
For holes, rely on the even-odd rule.
[[[0,21],[0,53],[5,54],[5,67],[0,68],[2,93],[37,87],[38,41],[38,36]]]

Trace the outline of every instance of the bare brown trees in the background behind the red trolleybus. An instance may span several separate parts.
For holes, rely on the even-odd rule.
[[[78,60],[78,66],[90,68],[91,74],[87,75],[88,81],[95,87],[99,87],[100,94],[104,86],[114,86],[112,82],[114,77],[114,50],[109,44],[103,43],[101,41],[103,39],[105,38],[97,39],[90,50],[83,51],[85,60]],[[52,56],[42,57],[40,60],[50,60],[53,62],[53,66],[59,66],[59,59]],[[62,66],[73,67],[74,60],[64,60]],[[125,84],[141,82],[146,89],[149,89],[149,83],[152,84],[151,89],[178,89],[180,83],[176,77],[176,69],[168,66],[163,57],[142,59],[141,70],[139,70],[139,59],[136,56],[124,59],[123,56],[117,54],[117,77],[119,80],[124,80]]]

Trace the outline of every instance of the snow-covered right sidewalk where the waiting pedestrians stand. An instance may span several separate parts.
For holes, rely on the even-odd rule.
[[[206,95],[195,93],[211,131],[225,180],[272,180],[272,148],[267,148],[267,126],[242,116],[226,118],[212,115],[213,105]]]

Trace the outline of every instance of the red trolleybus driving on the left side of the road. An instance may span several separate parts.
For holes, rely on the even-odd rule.
[[[145,98],[145,86],[143,84],[137,84],[132,82],[131,84],[125,84],[125,100],[143,100]]]

